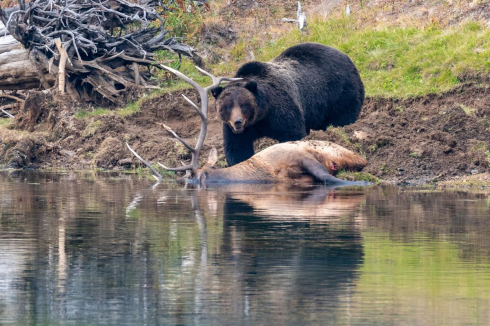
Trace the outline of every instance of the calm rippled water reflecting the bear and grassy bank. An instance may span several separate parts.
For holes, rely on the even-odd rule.
[[[0,325],[490,325],[490,199],[0,172]]]

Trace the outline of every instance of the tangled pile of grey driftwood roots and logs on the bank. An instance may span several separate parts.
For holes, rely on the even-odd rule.
[[[0,66],[3,60],[10,69],[24,70],[3,76],[8,69],[2,67],[0,90],[29,89],[40,83],[45,89],[66,90],[74,100],[119,105],[129,88],[151,84],[156,50],[176,52],[201,65],[195,50],[165,29],[161,13],[176,4],[164,2],[19,0],[16,8],[0,8],[5,26],[3,30],[0,26],[0,37],[11,35],[0,42]],[[7,54],[3,59],[2,49]]]

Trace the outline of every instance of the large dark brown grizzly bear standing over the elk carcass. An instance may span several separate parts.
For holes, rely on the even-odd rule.
[[[354,63],[317,43],[295,45],[269,62],[246,63],[235,77],[242,80],[212,90],[229,166],[252,157],[261,137],[300,140],[311,129],[353,123],[364,101]]]

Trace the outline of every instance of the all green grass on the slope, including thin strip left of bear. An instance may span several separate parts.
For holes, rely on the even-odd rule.
[[[201,22],[199,14],[192,20],[195,24]],[[179,33],[193,35],[194,31],[181,30],[177,20],[174,23]],[[318,42],[337,48],[352,59],[361,73],[367,96],[407,98],[440,93],[454,88],[463,79],[484,76],[490,72],[490,29],[479,22],[445,29],[437,25],[374,28],[359,26],[355,18],[351,17],[312,20],[308,26],[309,33],[293,29],[265,44],[259,39],[239,40],[229,50],[232,61],[208,65],[207,69],[215,75],[232,76],[245,62],[245,53],[250,48],[247,44],[254,44],[253,52],[257,60],[268,61],[295,44]],[[175,54],[159,51],[157,55],[161,62],[179,68],[199,84],[209,85],[209,78],[197,71],[190,60],[183,59],[179,64]],[[115,111],[116,114],[130,115],[138,112],[141,105],[155,94],[158,96],[190,87],[164,70],[157,73],[155,78],[161,90]],[[106,115],[110,112],[105,109],[79,111],[76,117]]]

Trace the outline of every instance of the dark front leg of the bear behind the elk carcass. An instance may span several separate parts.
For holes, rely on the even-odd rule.
[[[240,134],[235,134],[230,126],[223,124],[223,145],[225,147],[228,166],[241,163],[254,155],[254,141],[257,134],[253,128],[245,128]]]

